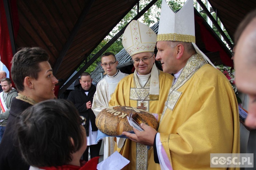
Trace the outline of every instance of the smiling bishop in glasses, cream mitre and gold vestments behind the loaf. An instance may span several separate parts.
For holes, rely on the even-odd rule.
[[[145,24],[132,20],[123,35],[123,46],[132,58],[135,71],[122,79],[109,102],[110,106],[132,106],[150,113],[161,114],[172,84],[171,74],[155,65],[156,33]],[[159,116],[160,117],[160,116]],[[121,138],[117,150],[130,163],[124,169],[151,169],[147,146]]]

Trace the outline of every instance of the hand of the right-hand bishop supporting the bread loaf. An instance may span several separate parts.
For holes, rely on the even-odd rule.
[[[141,123],[140,125],[144,131],[138,131],[137,129],[133,128],[135,134],[129,132],[123,132],[122,134],[134,142],[142,143],[143,145],[147,146],[153,146],[157,131],[144,123]]]

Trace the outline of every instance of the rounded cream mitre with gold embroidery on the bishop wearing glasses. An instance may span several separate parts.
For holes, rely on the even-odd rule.
[[[144,23],[132,20],[125,29],[123,46],[130,56],[142,52],[154,52],[156,33]]]

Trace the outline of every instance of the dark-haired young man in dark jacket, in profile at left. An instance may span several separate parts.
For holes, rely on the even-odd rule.
[[[18,148],[15,124],[25,109],[55,97],[54,87],[58,80],[54,77],[48,60],[49,55],[40,47],[23,48],[13,56],[11,75],[19,93],[12,99],[10,115],[0,144],[1,170],[29,169]]]

